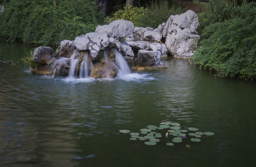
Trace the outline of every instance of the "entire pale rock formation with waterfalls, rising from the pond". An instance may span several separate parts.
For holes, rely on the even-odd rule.
[[[73,41],[63,40],[56,55],[49,47],[36,48],[37,66],[32,71],[54,76],[102,78],[130,71],[125,60],[134,62],[133,69],[166,67],[160,58],[167,53],[181,58],[193,55],[200,38],[196,34],[198,26],[198,17],[191,10],[170,16],[156,29],[134,28],[131,21],[115,20]],[[137,59],[133,51],[138,51]]]

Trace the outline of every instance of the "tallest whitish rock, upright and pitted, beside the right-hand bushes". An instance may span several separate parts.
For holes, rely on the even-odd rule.
[[[196,29],[199,26],[196,13],[188,10],[180,15],[171,15],[163,27],[163,37],[166,37],[166,47],[175,57],[191,57],[200,36]],[[191,53],[191,54],[187,54]]]

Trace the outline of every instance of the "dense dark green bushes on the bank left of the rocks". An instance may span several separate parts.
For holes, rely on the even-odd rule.
[[[0,13],[0,39],[57,46],[93,32],[104,20],[93,0],[10,0]]]

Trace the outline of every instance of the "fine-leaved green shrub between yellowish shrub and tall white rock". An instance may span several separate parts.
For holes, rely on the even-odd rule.
[[[166,0],[152,0],[147,6],[144,15],[140,17],[138,26],[157,28],[166,22],[171,15],[186,12],[185,6],[170,4]]]

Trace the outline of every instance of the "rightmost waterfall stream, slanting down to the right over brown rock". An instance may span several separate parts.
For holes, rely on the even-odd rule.
[[[131,74],[131,70],[128,66],[128,64],[125,61],[125,58],[123,57],[123,55],[116,49],[116,48],[112,48],[111,49],[115,55],[115,63],[118,66],[118,77],[123,77],[126,76],[128,74]]]

